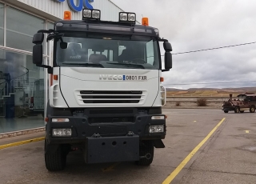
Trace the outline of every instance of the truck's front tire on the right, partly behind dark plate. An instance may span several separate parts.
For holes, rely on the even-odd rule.
[[[139,146],[139,156],[146,156],[146,158],[140,158],[135,164],[138,166],[150,166],[154,158],[154,142],[142,141]]]

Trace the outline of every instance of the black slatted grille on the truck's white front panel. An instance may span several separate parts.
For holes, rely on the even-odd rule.
[[[78,95],[86,104],[139,103],[145,96],[141,90],[81,90]]]

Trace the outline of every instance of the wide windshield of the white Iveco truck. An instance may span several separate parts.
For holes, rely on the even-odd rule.
[[[158,42],[141,36],[65,34],[56,46],[57,66],[159,70]]]

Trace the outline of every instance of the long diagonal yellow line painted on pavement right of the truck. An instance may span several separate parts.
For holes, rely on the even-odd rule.
[[[222,118],[222,121],[218,123],[217,126],[214,127],[213,130],[210,131],[210,133],[190,152],[189,155],[186,156],[186,158],[178,165],[178,167],[166,178],[162,184],[170,183],[174,180],[174,178],[178,175],[178,173],[183,169],[184,166],[186,166],[186,163],[190,161],[190,159],[198,152],[198,150],[202,147],[202,145],[210,138],[212,134],[214,134],[214,131],[218,129],[218,126],[221,126],[222,122],[224,122],[226,118]]]

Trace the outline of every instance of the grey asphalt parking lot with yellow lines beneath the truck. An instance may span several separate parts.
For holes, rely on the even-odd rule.
[[[44,164],[44,142],[32,142],[0,150],[0,183],[256,183],[255,113],[163,111],[166,148],[155,149],[151,166],[86,165],[76,151],[68,155],[65,170],[51,173]]]

